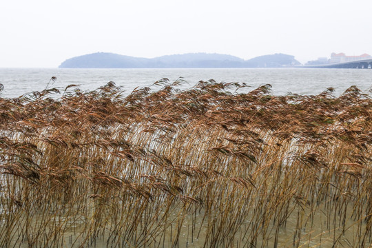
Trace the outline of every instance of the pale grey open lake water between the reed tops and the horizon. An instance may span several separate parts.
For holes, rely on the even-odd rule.
[[[2,97],[17,97],[33,91],[44,90],[50,78],[57,80],[48,87],[64,90],[67,85],[79,84],[82,90],[94,90],[114,81],[129,94],[135,87],[145,87],[159,79],[175,81],[183,77],[188,84],[180,89],[192,87],[198,81],[214,79],[217,82],[247,83],[245,91],[270,83],[272,94],[283,95],[319,94],[333,87],[335,95],[342,94],[351,85],[362,91],[372,87],[372,70],[358,69],[310,69],[310,68],[239,68],[239,69],[17,69],[0,68],[0,83],[4,90]]]

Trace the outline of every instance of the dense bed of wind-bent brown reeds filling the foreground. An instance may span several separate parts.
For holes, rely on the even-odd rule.
[[[0,98],[0,247],[369,247],[372,101],[163,79]]]

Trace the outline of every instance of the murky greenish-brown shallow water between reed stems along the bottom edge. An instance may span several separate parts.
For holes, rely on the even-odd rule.
[[[333,218],[333,214],[331,217],[328,216],[327,204],[322,203],[318,205],[316,209],[312,210],[308,206],[304,208],[305,211],[302,211],[293,203],[289,209],[292,208],[294,211],[287,219],[285,226],[276,229],[271,222],[265,237],[262,236],[262,234],[258,234],[258,239],[254,245],[251,244],[249,238],[245,238],[245,236],[251,236],[252,231],[250,218],[247,218],[247,220],[242,221],[242,225],[236,230],[234,236],[227,234],[226,231],[230,230],[223,230],[220,235],[227,235],[226,243],[220,242],[217,247],[276,247],[274,244],[276,244],[277,247],[360,247],[360,240],[356,237],[358,236],[358,232],[360,232],[358,224],[362,220],[346,218],[346,223],[344,225],[345,231],[343,233],[342,225],[339,225],[339,223],[342,222],[342,216],[335,215],[335,218]],[[12,234],[13,238],[9,247],[49,247],[51,243],[54,243],[53,247],[136,247],[136,245],[140,245],[141,247],[204,247],[207,238],[206,230],[211,228],[209,225],[211,223],[220,223],[221,221],[219,217],[217,217],[217,220],[204,219],[204,212],[197,211],[197,214],[187,214],[183,223],[179,225],[178,218],[180,210],[175,208],[172,212],[173,214],[169,216],[169,219],[174,219],[172,224],[168,224],[167,227],[160,224],[154,229],[147,229],[147,232],[151,234],[151,237],[145,241],[145,244],[148,242],[148,245],[145,245],[143,242],[138,244],[135,243],[134,240],[125,240],[120,236],[116,236],[117,230],[115,230],[114,223],[106,223],[105,230],[99,231],[95,234],[96,236],[84,236],[87,232],[87,226],[91,226],[92,223],[90,222],[94,221],[93,213],[91,213],[91,216],[81,216],[79,219],[72,218],[67,214],[50,213],[50,222],[55,222],[56,226],[61,225],[59,228],[63,229],[63,232],[60,232],[54,237],[56,242],[53,242],[52,240],[54,238],[48,235],[48,233],[50,233],[54,236],[55,233],[52,228],[47,228],[45,233],[41,234],[43,237],[37,238],[37,243],[33,243],[31,246],[28,241],[34,237],[30,234],[25,236],[23,235],[24,230],[18,230],[14,231]],[[350,217],[352,214],[353,209],[349,207],[346,215]],[[249,214],[249,216],[253,215],[253,212]],[[315,218],[311,218],[311,215],[315,215]],[[37,216],[21,219],[31,220],[30,226],[36,227],[42,225]],[[17,225],[24,227],[26,223],[19,223]],[[298,229],[298,225],[302,227]],[[177,239],[176,232],[178,226],[181,227],[181,231]],[[216,231],[219,231],[218,225],[215,228]],[[364,228],[365,225],[362,225],[362,229]],[[138,229],[138,236],[140,236],[142,231],[143,230]],[[277,241],[275,240],[276,231],[278,231]],[[156,236],[153,236],[154,234],[156,234]],[[296,238],[294,238],[294,236],[296,236]],[[300,241],[297,242],[296,239],[299,237]],[[234,241],[229,242],[230,238]],[[176,239],[178,242],[175,242]],[[89,241],[86,242],[86,240]],[[85,245],[81,246],[83,243],[85,243]],[[336,246],[334,246],[335,244]],[[369,247],[369,245],[371,245],[371,240],[367,238],[362,247]]]

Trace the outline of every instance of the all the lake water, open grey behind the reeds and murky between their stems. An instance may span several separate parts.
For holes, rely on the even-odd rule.
[[[167,77],[169,81],[172,82],[178,79],[180,76],[182,76],[183,79],[188,82],[188,85],[183,85],[181,87],[182,89],[186,87],[192,87],[192,85],[195,85],[200,80],[206,81],[209,79],[214,79],[217,82],[245,82],[247,83],[247,85],[251,86],[246,89],[247,91],[258,87],[259,85],[270,83],[273,86],[272,93],[276,95],[287,94],[288,92],[296,94],[319,94],[323,90],[327,89],[327,87],[334,87],[335,95],[338,95],[344,92],[344,90],[346,90],[351,85],[356,85],[360,88],[360,90],[365,92],[370,90],[372,86],[372,70],[355,69],[0,69],[0,83],[4,86],[4,90],[3,92],[0,92],[0,96],[17,97],[27,92],[44,90],[52,76],[56,76],[57,80],[53,85],[50,85],[49,87],[58,87],[61,90],[63,90],[67,85],[70,84],[79,84],[81,85],[80,87],[82,90],[94,90],[97,87],[105,85],[109,81],[114,81],[116,85],[123,87],[123,90],[125,90],[125,92],[127,92],[128,94],[132,90],[134,90],[135,87],[149,86],[152,85],[152,83],[154,83],[155,81],[163,79],[165,77]],[[0,177],[0,181],[4,180],[3,178]],[[345,196],[345,199],[351,198],[351,196],[347,195],[346,193],[347,192],[342,194]],[[5,193],[0,192],[0,196],[1,194]],[[4,195],[1,197],[6,198],[4,197]],[[81,199],[83,199],[83,197]],[[84,200],[82,201],[82,203],[84,203]],[[293,203],[291,202],[290,205],[288,205],[289,207],[287,207],[287,209],[295,210],[293,210],[293,214],[291,214],[291,216],[288,216],[285,227],[280,227],[280,229],[278,229],[278,247],[293,247],[293,233],[299,229],[299,226],[302,227],[302,231],[300,231],[300,235],[302,235],[303,240],[303,244],[301,243],[302,247],[320,247],[320,243],[321,247],[334,247],[333,243],[335,242],[334,240],[337,237],[340,238],[340,247],[357,247],[358,239],[355,237],[358,234],[361,234],[364,229],[366,229],[366,224],[362,222],[362,218],[357,218],[356,220],[355,218],[349,218],[349,216],[353,216],[353,212],[355,210],[353,209],[351,203],[349,206],[349,203],[344,204],[345,201],[340,204],[335,203],[335,205],[333,206],[338,206],[338,209],[343,209],[343,207],[345,206],[345,216],[348,216],[343,220],[346,223],[343,225],[343,227],[347,227],[347,231],[345,232],[345,234],[343,234],[343,229],[337,226],[337,223],[342,223],[342,215],[339,216],[338,214],[336,214],[339,210],[335,211],[334,215],[331,214],[333,212],[329,206],[331,206],[332,203],[333,202],[331,201],[327,201],[324,203],[311,205],[311,203],[306,202],[306,204],[304,204],[304,212],[302,213],[301,211],[299,211],[300,207],[296,207],[294,201]],[[59,240],[61,240],[63,243],[61,247],[76,247],[76,245],[72,245],[72,240],[77,240],[79,244],[80,242],[85,242],[85,236],[80,236],[80,234],[87,230],[86,223],[94,223],[95,217],[92,215],[93,211],[90,211],[90,209],[93,209],[93,207],[89,205],[89,202],[87,206],[87,212],[83,211],[84,214],[87,214],[87,217],[84,214],[81,216],[76,215],[73,218],[71,216],[68,216],[69,214],[77,211],[73,207],[71,208],[73,211],[71,209],[66,211],[52,211],[50,215],[45,215],[45,218],[47,218],[47,220],[48,218],[50,218],[50,220],[46,221],[45,227],[41,225],[41,223],[43,223],[44,221],[43,217],[30,217],[28,216],[29,213],[26,212],[26,216],[28,217],[23,218],[22,216],[20,218],[20,222],[15,225],[15,238],[12,240],[12,242],[18,242],[19,240],[17,239],[17,237],[23,236],[23,232],[25,232],[23,227],[28,227],[24,222],[27,221],[28,223],[30,221],[30,223],[32,223],[32,225],[28,224],[31,228],[30,233],[32,233],[32,228],[34,228],[34,234],[39,234],[37,232],[37,230],[39,230],[38,228],[40,228],[41,230],[44,230],[43,228],[48,229],[49,227],[54,225],[53,222],[55,220],[56,223],[59,223],[58,225],[61,225],[64,230],[61,232],[62,235],[58,236]],[[227,205],[222,206],[227,207]],[[21,216],[24,212],[23,209],[19,209],[20,210],[19,212],[17,212],[17,214]],[[366,209],[366,206],[364,206],[364,209]],[[362,212],[362,210],[358,211]],[[174,218],[174,220],[176,220],[178,218],[178,214],[182,212],[182,207],[177,206],[174,208],[174,214],[171,215],[170,218]],[[0,206],[0,216],[6,216],[6,214],[4,213],[5,211],[3,211]],[[194,215],[194,219],[192,217],[192,214],[187,214],[185,221],[183,222],[183,232],[180,234],[179,238],[180,247],[203,247],[206,237],[205,230],[207,230],[208,228],[208,223],[212,222],[208,222],[206,220],[205,224],[203,224],[203,211],[196,211],[195,213],[196,214]],[[302,214],[300,215],[298,213]],[[247,234],[248,236],[250,235],[250,228],[252,228],[253,226],[250,224],[250,221],[254,220],[254,217],[252,216],[254,216],[255,214],[256,213],[254,211],[247,213],[247,219],[244,223],[242,223],[242,225],[240,225],[239,229],[237,229],[236,236],[233,240],[233,243],[236,243],[236,247],[248,247],[249,240],[242,238],[242,236],[245,236],[245,234]],[[123,213],[123,216],[125,215],[126,213]],[[218,216],[218,214],[214,214],[211,216]],[[311,216],[311,218],[309,216]],[[154,219],[149,219],[154,221]],[[132,219],[130,218],[130,220]],[[216,218],[214,220],[216,220]],[[300,224],[298,220],[300,220]],[[3,225],[3,223],[5,223],[4,221],[4,218],[0,218],[0,240],[1,234],[4,234],[4,229],[7,228],[6,225]],[[304,223],[302,223],[302,221],[304,221]],[[309,223],[309,225],[307,225],[307,223]],[[330,223],[333,223],[333,225],[331,225]],[[90,225],[90,227],[92,227],[92,224]],[[110,239],[105,240],[104,238],[105,235],[107,237],[114,233],[114,231],[111,233],[110,231],[112,231],[111,227],[116,225],[116,220],[115,223],[107,222],[107,224],[105,225],[107,225],[106,227],[110,227],[110,230],[108,228],[105,229],[105,231],[103,232],[103,239],[98,240],[97,243],[94,240],[94,245],[91,245],[90,247],[108,247],[110,245]],[[195,230],[199,231],[200,233],[200,236],[199,233],[197,235],[198,238],[195,238],[193,236],[193,225],[194,227],[196,227]],[[274,247],[273,242],[275,242],[275,239],[270,237],[273,237],[276,230],[274,229],[274,225],[268,225],[270,226],[268,227],[269,234],[267,234],[267,245],[262,245],[262,242],[264,242],[265,240],[263,240],[262,236],[259,236],[257,247],[261,247],[261,245],[262,247]],[[126,226],[125,224],[121,224],[120,227]],[[157,226],[154,225],[154,229],[155,227]],[[163,226],[161,227],[163,228]],[[171,230],[172,227],[175,228],[176,224],[174,224],[174,226],[171,225]],[[57,227],[55,226],[55,228]],[[189,234],[189,229],[192,234]],[[138,230],[138,233],[141,233],[142,230],[140,228],[138,228]],[[202,231],[200,232],[200,230]],[[45,239],[39,239],[41,240],[41,242],[44,242],[43,240],[49,240],[46,238],[48,234],[47,231],[45,231],[45,234],[43,234],[45,235]],[[89,229],[88,233],[90,231],[91,229]],[[161,234],[160,231],[159,234]],[[163,232],[163,234],[163,236],[158,235],[153,238],[154,247],[172,247],[172,231],[169,232],[168,228],[166,231]],[[56,234],[52,236],[56,236]],[[243,240],[245,244],[240,243],[241,240]],[[114,241],[110,240],[110,242]],[[371,245],[371,240],[368,240],[366,242],[367,245]],[[13,245],[15,244],[10,243],[8,247],[13,247]],[[57,246],[58,245],[59,243],[57,244]],[[17,244],[17,247],[28,247],[28,244],[26,242],[23,242],[20,245]]]

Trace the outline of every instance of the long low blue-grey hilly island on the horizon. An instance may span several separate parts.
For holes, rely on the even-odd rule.
[[[282,68],[300,65],[294,56],[270,54],[244,60],[227,54],[188,53],[138,58],[108,52],[76,56],[59,68]]]

